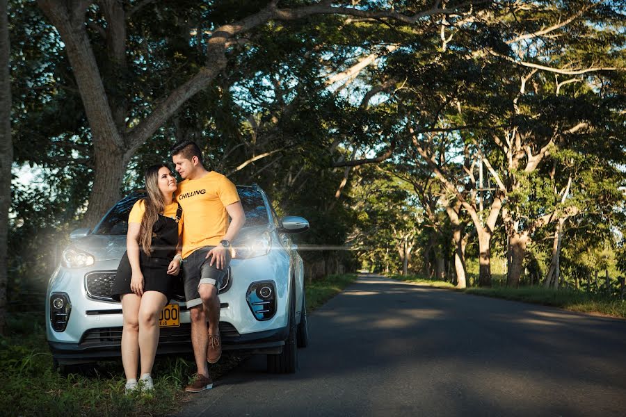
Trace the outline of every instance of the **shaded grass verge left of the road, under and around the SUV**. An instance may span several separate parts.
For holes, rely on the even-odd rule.
[[[354,281],[333,275],[307,284],[307,311],[313,311]],[[44,313],[9,313],[8,334],[0,336],[0,410],[3,416],[163,416],[181,407],[183,391],[195,371],[193,356],[159,356],[154,363],[153,395],[125,395],[121,359],[99,362],[92,375],[64,377],[52,367]],[[219,379],[241,362],[225,352],[211,376]]]

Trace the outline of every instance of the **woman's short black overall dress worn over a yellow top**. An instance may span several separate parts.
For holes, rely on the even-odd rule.
[[[182,208],[178,204],[176,219],[159,215],[157,222],[152,227],[152,253],[147,256],[141,247],[139,249],[139,266],[143,274],[143,292],[159,291],[168,298],[175,295],[179,286],[177,275],[168,275],[168,266],[176,254],[178,245],[178,222],[182,216]],[[120,301],[120,295],[131,294],[130,281],[133,272],[128,260],[128,252],[124,252],[122,261],[115,275],[115,283],[111,288],[111,298]]]

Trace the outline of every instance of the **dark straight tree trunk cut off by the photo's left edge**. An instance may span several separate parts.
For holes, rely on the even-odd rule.
[[[0,0],[0,334],[6,332],[8,211],[11,204],[11,81],[7,0]]]

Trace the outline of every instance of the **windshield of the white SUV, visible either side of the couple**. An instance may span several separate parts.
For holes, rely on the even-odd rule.
[[[259,190],[255,187],[237,186],[237,193],[239,193],[243,211],[246,213],[246,227],[267,224],[267,209]],[[128,231],[128,215],[131,208],[144,195],[143,191],[136,191],[121,199],[97,224],[93,234],[125,235]]]

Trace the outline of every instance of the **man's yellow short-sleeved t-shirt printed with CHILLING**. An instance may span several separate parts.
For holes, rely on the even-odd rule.
[[[185,216],[182,256],[199,247],[217,246],[228,228],[225,206],[239,201],[237,189],[229,179],[210,171],[198,179],[185,179],[175,195]]]

